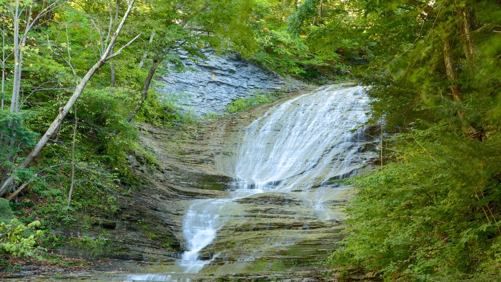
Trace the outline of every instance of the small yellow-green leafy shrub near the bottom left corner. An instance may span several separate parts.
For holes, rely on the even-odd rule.
[[[26,226],[17,219],[12,219],[10,224],[0,222],[0,251],[16,257],[35,256],[40,250],[35,246],[39,237],[43,235],[43,231],[36,230],[38,226],[40,226],[38,220]]]

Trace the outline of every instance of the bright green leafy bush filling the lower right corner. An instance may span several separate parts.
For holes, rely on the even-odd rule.
[[[414,126],[393,136],[393,162],[349,181],[359,191],[331,261],[391,281],[501,274],[499,129],[478,142],[445,123]]]

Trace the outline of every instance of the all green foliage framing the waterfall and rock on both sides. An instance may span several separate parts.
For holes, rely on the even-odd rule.
[[[96,73],[51,143],[25,170],[17,169],[23,156],[100,57],[110,20],[115,27],[113,15],[124,7],[104,0],[65,2],[28,31],[32,17],[52,2],[20,0],[21,9],[30,12],[14,15],[16,3],[0,4],[0,183],[14,175],[16,187],[29,185],[17,203],[0,201],[2,220],[16,213],[53,227],[85,229],[90,215],[116,213],[120,197],[130,195],[138,181],[128,156],[150,166],[156,162],[138,144],[129,115],[139,107],[138,121],[197,122],[189,110],[174,106],[175,97],[145,91],[149,74],[182,71],[180,53],[202,61],[198,50],[210,45],[307,81],[349,77],[372,85],[370,122],[384,120],[393,136],[381,148],[386,165],[351,181],[359,193],[348,210],[344,247],[333,262],[376,270],[387,280],[487,280],[500,274],[498,3],[142,1],[116,47],[137,34],[142,40]],[[16,49],[18,30],[26,41]],[[19,54],[21,62],[15,61]],[[18,86],[21,99],[14,95]],[[237,99],[227,112],[276,98]],[[17,100],[19,108],[10,108]],[[75,191],[68,206],[73,159]],[[2,224],[10,230],[2,232],[4,251],[35,253],[36,223]],[[81,241],[105,245],[99,238]]]

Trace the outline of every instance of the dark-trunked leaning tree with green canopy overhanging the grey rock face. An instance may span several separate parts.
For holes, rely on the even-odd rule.
[[[150,69],[140,90],[139,100],[126,117],[127,122],[132,121],[146,101],[157,68],[165,60],[172,64],[171,71],[183,69],[176,52],[186,52],[192,59],[199,60],[198,50],[205,45],[219,50],[231,46],[242,53],[249,53],[248,50],[253,48],[252,32],[248,33],[247,26],[248,6],[252,5],[250,1],[165,3],[151,0],[148,5],[154,11],[148,16],[149,22],[145,26],[151,35],[146,47],[148,51],[139,62],[139,68],[149,57]]]

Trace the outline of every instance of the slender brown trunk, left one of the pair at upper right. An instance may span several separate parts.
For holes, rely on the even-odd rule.
[[[450,94],[452,95],[452,99],[456,102],[462,101],[461,91],[459,89],[459,85],[457,85],[457,75],[454,69],[454,65],[452,63],[451,53],[452,49],[450,46],[450,40],[448,38],[448,33],[444,32],[442,36],[442,52],[443,52],[443,60],[445,64],[445,70],[447,73],[447,79],[451,83],[450,85]],[[474,137],[477,130],[466,120],[464,113],[461,110],[456,110],[457,117],[461,122],[461,130],[468,137]]]

